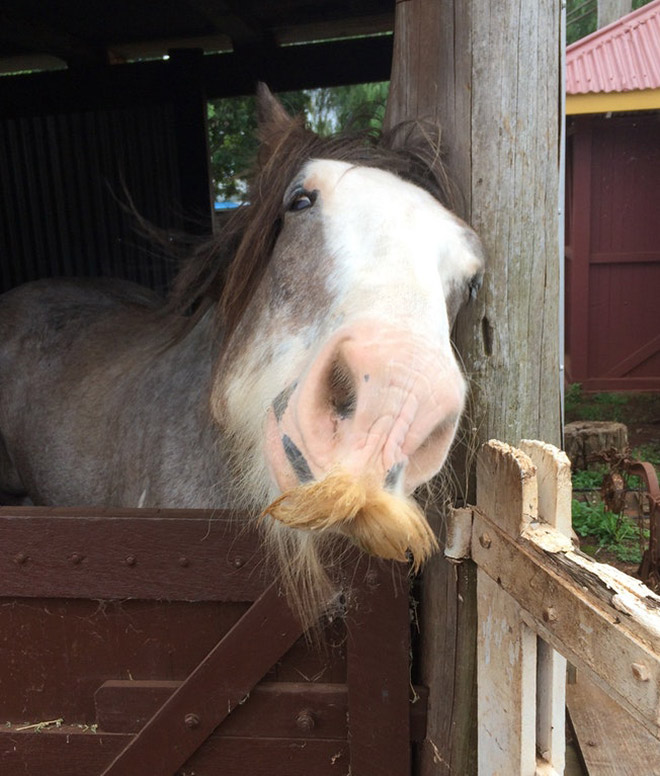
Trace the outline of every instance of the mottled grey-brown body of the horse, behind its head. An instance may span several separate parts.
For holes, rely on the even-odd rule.
[[[204,411],[209,324],[165,349],[160,304],[121,281],[37,281],[2,298],[0,491],[62,506],[227,505]]]

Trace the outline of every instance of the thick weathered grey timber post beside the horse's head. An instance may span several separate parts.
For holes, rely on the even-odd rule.
[[[487,255],[484,287],[457,322],[472,385],[469,428],[560,440],[559,53],[553,0],[402,0],[386,121],[436,119],[461,215]],[[476,770],[476,603],[470,563],[425,572],[422,681],[430,687],[422,776]]]

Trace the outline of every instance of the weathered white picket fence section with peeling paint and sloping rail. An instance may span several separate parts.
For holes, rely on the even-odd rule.
[[[660,598],[574,548],[566,455],[487,443],[471,531],[457,518],[450,559],[468,546],[478,566],[480,776],[563,773],[565,658],[659,737]]]

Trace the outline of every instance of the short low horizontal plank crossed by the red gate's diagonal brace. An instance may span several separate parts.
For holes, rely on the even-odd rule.
[[[112,680],[95,694],[98,729],[104,733],[137,733],[181,682]],[[428,688],[413,687],[409,705],[410,736],[426,732]],[[255,738],[348,737],[348,689],[323,682],[261,682],[217,729],[218,736]]]

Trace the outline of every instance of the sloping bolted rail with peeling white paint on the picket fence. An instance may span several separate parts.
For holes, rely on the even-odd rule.
[[[533,534],[527,531],[528,536]],[[475,510],[473,557],[518,601],[530,627],[578,668],[596,676],[656,734],[660,599],[620,572],[617,582],[615,569],[578,555],[570,541],[551,531],[537,530],[535,542],[516,541]],[[477,538],[485,534],[487,546]],[[547,538],[551,535],[554,547]],[[538,545],[544,543],[541,549]]]

